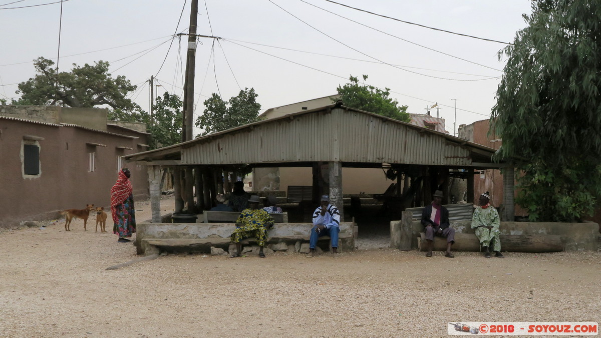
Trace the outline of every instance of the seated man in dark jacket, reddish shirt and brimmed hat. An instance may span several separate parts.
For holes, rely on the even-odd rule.
[[[421,213],[421,224],[426,227],[426,242],[428,252],[426,257],[432,257],[432,247],[434,246],[434,236],[447,238],[447,252],[445,257],[453,258],[451,245],[455,242],[455,229],[449,226],[449,210],[442,206],[442,191],[436,190],[433,195],[432,204],[424,207]]]

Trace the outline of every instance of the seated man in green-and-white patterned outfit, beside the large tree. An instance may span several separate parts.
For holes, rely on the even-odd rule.
[[[485,258],[490,258],[491,246],[495,251],[495,257],[505,258],[501,254],[501,240],[499,239],[501,218],[495,207],[490,205],[489,200],[488,191],[480,195],[480,206],[474,210],[474,215],[472,215],[472,229],[475,230],[476,237],[480,240]]]

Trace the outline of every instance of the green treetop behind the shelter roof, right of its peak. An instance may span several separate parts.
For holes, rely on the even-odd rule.
[[[407,113],[407,106],[399,106],[396,99],[390,97],[390,88],[381,90],[373,85],[365,85],[367,75],[363,75],[363,83],[359,79],[350,76],[349,83],[343,87],[338,86],[336,90],[340,94],[340,100],[348,107],[361,109],[374,114],[394,118],[395,120],[409,122],[411,118]],[[332,99],[336,101],[337,99]]]

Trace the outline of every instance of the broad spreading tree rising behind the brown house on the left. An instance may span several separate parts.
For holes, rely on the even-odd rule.
[[[54,61],[40,57],[34,60],[36,75],[21,82],[16,91],[22,94],[13,105],[60,105],[75,108],[93,108],[108,105],[117,111],[139,111],[139,106],[127,98],[136,86],[125,78],[113,78],[108,73],[109,63],[97,61],[94,65],[79,67],[73,64],[70,72],[59,72]]]

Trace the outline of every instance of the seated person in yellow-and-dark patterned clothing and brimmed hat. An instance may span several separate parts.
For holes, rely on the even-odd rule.
[[[242,256],[240,241],[249,237],[257,238],[257,244],[260,247],[259,257],[265,257],[263,247],[267,242],[267,229],[273,227],[273,218],[261,209],[259,203],[261,203],[261,199],[257,195],[252,195],[248,200],[248,208],[240,213],[240,217],[236,221],[236,229],[230,236],[231,242],[236,244],[236,252],[231,253],[230,257]]]

